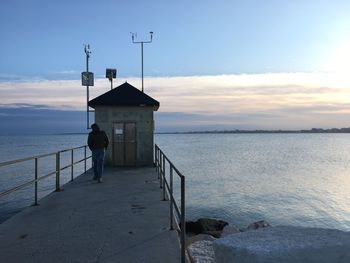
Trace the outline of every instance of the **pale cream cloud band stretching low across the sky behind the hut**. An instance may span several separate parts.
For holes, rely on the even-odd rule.
[[[141,86],[139,78],[118,79]],[[184,129],[284,129],[348,127],[347,76],[335,73],[267,73],[217,76],[147,77],[145,92],[160,101],[157,127]],[[96,78],[90,99],[110,90]],[[86,87],[80,80],[0,82],[1,103],[84,111]]]

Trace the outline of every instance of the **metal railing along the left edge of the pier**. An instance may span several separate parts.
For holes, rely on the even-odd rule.
[[[79,150],[84,148],[84,158],[80,159],[78,161],[74,161],[74,150]],[[61,153],[64,152],[71,152],[71,158],[70,158],[70,164],[61,167]],[[39,177],[39,159],[44,158],[44,157],[49,157],[49,156],[56,156],[56,161],[55,161],[55,170],[43,175]],[[37,156],[32,156],[32,157],[27,157],[27,158],[23,158],[23,159],[18,159],[18,160],[13,160],[13,161],[7,161],[7,162],[3,162],[0,163],[0,168],[4,167],[4,166],[9,166],[9,165],[14,165],[14,164],[18,164],[18,163],[23,163],[23,162],[27,162],[27,161],[31,161],[34,160],[34,179],[30,180],[28,182],[25,182],[21,185],[15,186],[11,189],[8,189],[4,192],[0,192],[0,198],[5,196],[5,195],[9,195],[11,193],[14,193],[20,189],[23,189],[31,184],[34,184],[34,205],[38,205],[38,183],[39,181],[46,179],[52,175],[56,175],[56,186],[55,186],[55,191],[60,191],[61,190],[61,171],[71,168],[71,181],[74,180],[74,166],[84,162],[84,173],[86,173],[86,161],[91,158],[91,156],[87,156],[87,145],[83,145],[83,146],[79,146],[79,147],[75,147],[75,148],[70,148],[70,149],[66,149],[66,150],[62,150],[59,152],[53,152],[53,153],[48,153],[48,154],[43,154],[43,155],[37,155]]]

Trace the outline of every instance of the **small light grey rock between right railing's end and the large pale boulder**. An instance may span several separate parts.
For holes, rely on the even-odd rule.
[[[192,243],[187,251],[192,263],[215,263],[212,240]]]

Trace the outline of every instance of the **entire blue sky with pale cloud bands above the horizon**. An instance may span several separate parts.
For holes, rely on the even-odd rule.
[[[0,134],[86,132],[95,86],[160,102],[156,131],[350,127],[350,1],[0,1]]]

